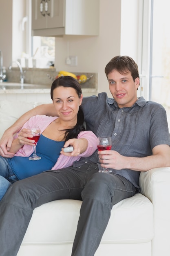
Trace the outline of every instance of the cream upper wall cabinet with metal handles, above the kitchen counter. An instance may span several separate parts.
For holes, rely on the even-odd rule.
[[[99,0],[32,0],[32,36],[99,34]]]

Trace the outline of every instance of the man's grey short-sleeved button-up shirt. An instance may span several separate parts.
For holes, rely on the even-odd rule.
[[[110,136],[112,150],[128,157],[152,155],[152,148],[160,144],[170,145],[166,110],[159,103],[139,98],[130,108],[119,108],[105,92],[85,97],[82,102],[86,129],[97,137]],[[85,162],[98,162],[97,150],[91,157],[81,158],[74,166]],[[139,171],[113,170],[139,186]]]

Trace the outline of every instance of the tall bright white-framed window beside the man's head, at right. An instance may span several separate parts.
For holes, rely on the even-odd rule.
[[[149,0],[143,17],[143,33],[147,35],[143,37],[142,48],[146,83],[142,85],[141,95],[164,106],[170,127],[170,16],[167,0]]]

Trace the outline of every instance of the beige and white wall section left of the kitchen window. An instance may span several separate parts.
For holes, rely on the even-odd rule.
[[[25,11],[25,0],[0,0],[0,49],[6,67],[21,56],[21,49],[25,49],[25,31],[22,30]]]

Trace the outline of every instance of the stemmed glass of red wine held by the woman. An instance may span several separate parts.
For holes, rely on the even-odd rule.
[[[38,140],[40,139],[40,128],[39,126],[28,126],[27,129],[30,129],[30,133],[33,135],[32,138],[27,137],[28,139],[35,140],[33,145],[33,156],[29,157],[29,160],[40,160],[41,157],[38,157],[36,154],[36,144]]]

